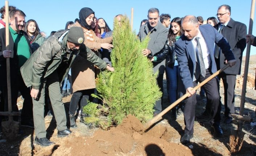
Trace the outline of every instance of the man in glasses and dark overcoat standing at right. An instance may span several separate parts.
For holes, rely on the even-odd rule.
[[[236,59],[236,65],[234,67],[226,69],[220,73],[224,85],[224,106],[225,106],[225,123],[232,122],[231,114],[235,113],[235,84],[236,75],[241,73],[241,63],[243,51],[246,47],[245,35],[247,34],[246,25],[230,18],[231,7],[229,5],[221,5],[218,8],[219,24],[215,28],[227,39],[230,44],[231,50],[234,53]],[[217,69],[225,66],[223,62],[226,62],[226,57],[220,52],[221,50],[215,47],[215,61]],[[221,104],[221,102],[220,102]]]

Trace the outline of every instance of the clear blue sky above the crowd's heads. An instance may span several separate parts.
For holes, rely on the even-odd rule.
[[[1,0],[1,2],[3,6],[5,1]],[[149,8],[158,8],[160,14],[169,13],[171,19],[192,14],[202,16],[206,20],[211,16],[216,17],[217,9],[222,4],[230,5],[231,18],[247,25],[248,32],[251,0],[9,0],[9,5],[16,6],[26,14],[26,21],[36,20],[40,30],[47,35],[51,31],[64,29],[67,21],[79,18],[79,10],[83,7],[94,10],[95,16],[104,18],[111,29],[113,17],[117,14],[127,14],[131,17],[131,8],[133,8],[133,29],[138,32],[141,20],[147,18]],[[252,34],[256,35],[256,26]],[[246,49],[244,55],[245,53]],[[252,54],[256,54],[255,47],[251,48]]]

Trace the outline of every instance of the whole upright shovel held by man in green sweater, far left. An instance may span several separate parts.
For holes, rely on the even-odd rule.
[[[6,50],[9,50],[9,4],[5,1],[5,17],[6,17]],[[13,52],[12,52],[13,56]],[[7,66],[7,90],[8,90],[8,112],[1,112],[1,115],[8,115],[8,121],[2,122],[2,130],[8,140],[15,140],[18,135],[19,122],[13,121],[13,115],[18,115],[18,112],[12,112],[12,98],[11,98],[11,74],[10,74],[10,58],[6,58]],[[15,101],[13,101],[15,102]]]

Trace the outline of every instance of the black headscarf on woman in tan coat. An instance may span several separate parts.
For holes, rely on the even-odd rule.
[[[80,11],[79,11],[79,24],[83,27],[83,28],[86,28],[88,30],[91,29],[90,25],[87,24],[86,22],[86,18],[88,16],[90,16],[90,14],[94,14],[94,11],[91,9],[91,8],[82,8]]]

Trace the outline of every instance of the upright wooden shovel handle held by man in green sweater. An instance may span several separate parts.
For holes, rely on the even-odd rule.
[[[9,3],[5,1],[5,46],[9,50]],[[13,52],[13,51],[12,51]],[[8,93],[8,111],[12,112],[12,92],[11,92],[11,74],[10,74],[10,58],[6,58],[6,71],[7,71],[7,93]]]

